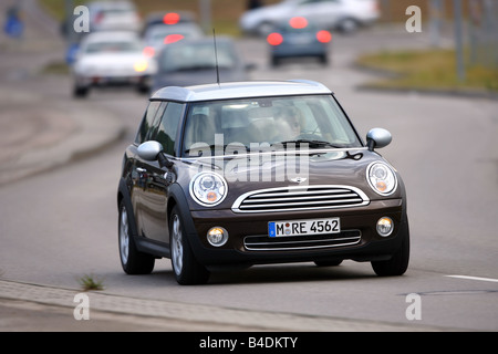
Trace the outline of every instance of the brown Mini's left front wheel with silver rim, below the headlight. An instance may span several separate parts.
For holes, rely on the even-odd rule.
[[[175,207],[169,218],[169,242],[176,281],[181,285],[205,284],[209,280],[209,271],[196,260],[184,230],[181,216]]]

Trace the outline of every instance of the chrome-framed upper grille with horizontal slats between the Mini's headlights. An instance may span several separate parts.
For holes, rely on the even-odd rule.
[[[350,208],[369,202],[362,190],[351,186],[293,186],[247,192],[231,209],[235,212],[271,212]]]

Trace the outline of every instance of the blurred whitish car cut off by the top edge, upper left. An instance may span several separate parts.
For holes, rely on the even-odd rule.
[[[87,3],[90,31],[139,31],[142,20],[131,1],[95,1]]]

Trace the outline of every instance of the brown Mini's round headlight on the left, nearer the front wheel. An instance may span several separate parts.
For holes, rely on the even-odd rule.
[[[228,192],[227,181],[214,173],[200,173],[190,181],[190,196],[205,207],[214,207],[224,201]]]

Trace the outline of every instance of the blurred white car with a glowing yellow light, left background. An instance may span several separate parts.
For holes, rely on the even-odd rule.
[[[146,93],[157,64],[144,54],[136,33],[94,32],[83,39],[72,70],[73,94],[84,97],[91,87],[115,85],[132,85]]]

